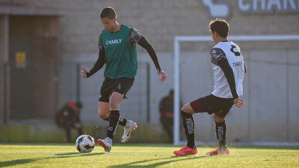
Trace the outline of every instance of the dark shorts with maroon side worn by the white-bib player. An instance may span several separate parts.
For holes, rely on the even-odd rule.
[[[197,100],[191,101],[190,105],[195,112],[214,113],[220,118],[225,118],[231,107],[234,105],[233,98],[220,98],[212,94]]]

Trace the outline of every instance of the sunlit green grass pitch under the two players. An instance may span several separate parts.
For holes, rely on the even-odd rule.
[[[74,144],[0,144],[0,167],[298,167],[298,147],[231,147],[231,155],[175,156],[180,147],[113,144],[110,153],[96,146],[80,154]]]

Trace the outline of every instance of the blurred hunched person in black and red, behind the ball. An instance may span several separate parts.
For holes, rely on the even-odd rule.
[[[81,109],[81,102],[68,102],[56,113],[56,124],[65,129],[68,142],[73,142],[71,140],[71,128],[77,129],[79,135],[83,135],[83,125],[80,121]]]

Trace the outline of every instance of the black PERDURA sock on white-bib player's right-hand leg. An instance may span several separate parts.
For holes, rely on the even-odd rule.
[[[217,139],[219,141],[219,150],[226,150],[226,123],[225,120],[221,123],[217,123],[215,121],[216,124],[216,136]]]

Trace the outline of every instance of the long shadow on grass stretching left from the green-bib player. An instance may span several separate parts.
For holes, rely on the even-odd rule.
[[[0,162],[0,167],[14,166],[14,165],[19,165],[19,164],[40,161],[40,160],[46,160],[46,159],[71,158],[71,157],[77,157],[77,156],[92,156],[92,155],[102,155],[102,154],[104,154],[104,152],[103,153],[82,153],[82,154],[79,152],[59,153],[59,154],[55,154],[57,156],[44,157],[44,158],[16,159],[16,160],[11,160],[11,161],[3,161],[3,162]]]

